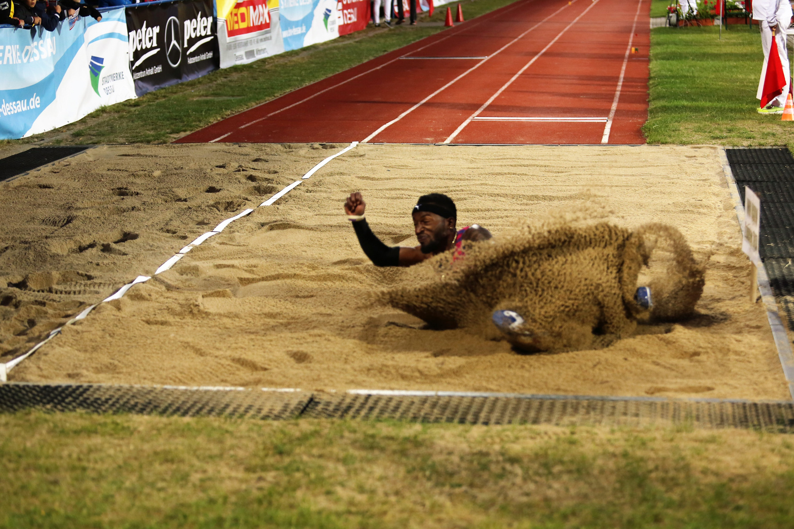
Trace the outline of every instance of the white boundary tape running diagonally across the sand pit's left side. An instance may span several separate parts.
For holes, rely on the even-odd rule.
[[[294,190],[295,186],[298,186],[298,184],[303,182],[303,180],[306,180],[306,178],[310,178],[310,176],[312,174],[316,173],[319,169],[321,169],[323,166],[325,166],[326,163],[329,163],[332,159],[336,158],[337,156],[345,154],[345,152],[349,151],[352,148],[355,148],[357,145],[358,145],[358,142],[354,141],[352,144],[349,144],[348,147],[345,147],[344,149],[342,149],[341,151],[337,152],[336,154],[330,155],[326,159],[323,159],[322,162],[318,163],[317,165],[312,167],[309,170],[309,172],[304,174],[303,178],[301,180],[298,180],[296,182],[292,182],[289,186],[285,187],[283,190],[280,190],[278,193],[276,193],[272,197],[268,198],[268,200],[262,202],[258,207],[261,208],[262,206],[272,205],[274,202],[279,200],[279,198],[283,197],[285,194],[289,193],[291,190]],[[186,247],[183,247],[175,255],[172,255],[172,257],[168,258],[168,260],[165,263],[161,264],[157,268],[157,270],[155,270],[153,275],[162,274],[165,270],[169,270],[172,266],[174,266],[177,263],[177,261],[179,261],[179,259],[182,259],[185,256],[185,254],[187,254],[188,251],[191,251],[193,248],[197,247],[199,244],[204,243],[211,236],[218,235],[218,233],[220,233],[223,230],[225,230],[229,226],[229,224],[232,224],[235,220],[239,220],[242,217],[245,217],[246,215],[249,215],[252,212],[253,212],[253,209],[245,209],[241,213],[237,213],[237,215],[235,215],[234,217],[231,217],[231,218],[228,218],[228,219],[222,221],[222,223],[218,224],[217,226],[215,226],[215,228],[211,232],[206,232],[202,236],[196,237],[195,240],[193,240],[192,243],[188,244]],[[134,285],[137,285],[138,283],[146,282],[146,281],[148,281],[151,278],[152,278],[152,276],[139,275],[137,278],[135,278],[133,280],[133,282],[127,283],[125,286],[122,286],[114,294],[110,295],[109,297],[106,297],[105,299],[103,299],[99,303],[106,303],[107,301],[113,301],[113,300],[121,299],[121,297],[124,297],[125,293],[127,293],[127,290],[131,289]],[[47,338],[41,340],[39,343],[37,343],[35,346],[33,346],[33,348],[30,351],[26,352],[25,355],[17,356],[17,358],[13,358],[13,360],[11,360],[10,362],[0,363],[0,381],[2,381],[2,382],[8,381],[8,372],[10,370],[12,370],[14,366],[17,366],[17,364],[19,364],[20,362],[25,360],[25,358],[28,358],[30,355],[33,355],[33,353],[38,351],[40,349],[40,347],[44,345],[44,343],[47,343],[51,339],[55,338],[56,335],[59,335],[61,330],[64,327],[66,327],[67,325],[74,324],[75,321],[83,320],[86,316],[88,316],[89,312],[94,310],[98,305],[99,304],[91,305],[90,307],[88,307],[87,309],[84,309],[83,312],[80,312],[77,316],[75,316],[71,320],[68,320],[63,326],[61,326],[59,328],[56,328],[56,329],[53,329],[52,331],[50,331],[50,333],[47,336]],[[174,388],[178,387],[180,389],[182,388],[182,386],[164,386],[164,387],[174,387]],[[210,386],[202,386],[203,389],[207,389],[209,387]],[[226,388],[213,388],[213,389],[226,389]],[[234,389],[234,388],[231,388],[231,389]],[[299,389],[292,389],[292,388],[285,388],[285,389],[264,389],[264,391],[300,391],[300,390]]]

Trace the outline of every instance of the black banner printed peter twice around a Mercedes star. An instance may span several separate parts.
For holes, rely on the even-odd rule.
[[[129,67],[137,95],[218,69],[213,0],[128,7],[126,12]]]

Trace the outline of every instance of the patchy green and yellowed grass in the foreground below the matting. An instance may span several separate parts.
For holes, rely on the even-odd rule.
[[[791,527],[789,435],[0,415],[0,527]]]

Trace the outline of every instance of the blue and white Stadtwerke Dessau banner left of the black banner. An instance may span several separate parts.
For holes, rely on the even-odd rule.
[[[0,30],[0,138],[46,132],[135,97],[124,10],[69,26]]]

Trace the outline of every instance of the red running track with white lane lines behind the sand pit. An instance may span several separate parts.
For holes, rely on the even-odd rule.
[[[649,5],[519,0],[177,143],[644,144]]]

